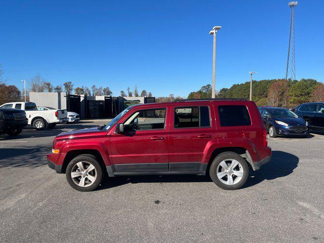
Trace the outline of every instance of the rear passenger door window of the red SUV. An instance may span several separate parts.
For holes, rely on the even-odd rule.
[[[208,106],[176,107],[174,128],[210,127],[211,118]]]

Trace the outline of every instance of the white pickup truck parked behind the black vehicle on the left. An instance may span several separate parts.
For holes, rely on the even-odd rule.
[[[28,125],[32,125],[36,130],[54,128],[57,123],[64,123],[68,120],[66,110],[37,110],[34,102],[10,102],[1,105],[0,108],[24,110]]]

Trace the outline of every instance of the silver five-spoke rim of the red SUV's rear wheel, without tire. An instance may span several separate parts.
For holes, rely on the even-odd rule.
[[[236,159],[225,159],[217,166],[217,177],[226,185],[237,184],[243,174],[243,167]]]

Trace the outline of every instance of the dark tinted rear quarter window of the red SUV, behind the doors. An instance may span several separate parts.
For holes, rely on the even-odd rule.
[[[251,125],[250,114],[245,105],[220,105],[218,114],[222,127]]]

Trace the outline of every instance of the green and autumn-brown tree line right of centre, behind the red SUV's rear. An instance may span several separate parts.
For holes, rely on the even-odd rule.
[[[212,86],[206,85],[200,90],[191,92],[188,99],[211,98]],[[216,91],[216,98],[250,99],[250,82],[234,84],[230,88]],[[252,100],[258,106],[289,107],[301,103],[316,101],[324,102],[324,84],[315,79],[300,80],[263,79],[252,81]]]

